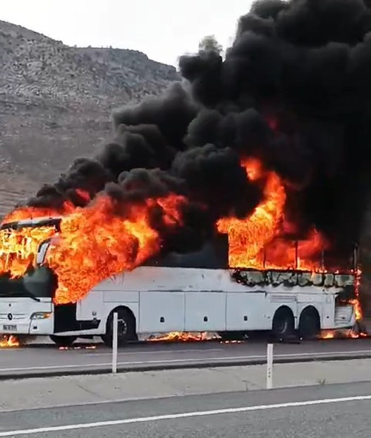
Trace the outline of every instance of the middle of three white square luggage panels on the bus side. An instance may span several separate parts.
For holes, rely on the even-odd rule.
[[[226,293],[185,292],[185,331],[225,331]]]

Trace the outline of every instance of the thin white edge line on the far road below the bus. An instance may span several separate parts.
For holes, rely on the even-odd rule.
[[[321,353],[288,353],[288,354],[276,354],[276,358],[300,358],[309,356],[312,358],[317,358],[321,356],[334,356],[333,360],[336,360],[336,355],[348,356],[360,353],[371,353],[371,350],[359,350],[359,351],[329,351]],[[247,359],[266,359],[266,355],[248,355],[248,356],[217,356],[217,357],[207,357],[207,358],[186,358],[186,359],[163,359],[163,360],[133,360],[128,362],[118,362],[117,365],[155,365],[155,364],[171,364],[171,363],[187,363],[187,362],[205,362],[208,360],[247,360]],[[17,368],[0,368],[0,372],[10,372],[10,371],[32,371],[32,370],[64,370],[65,368],[93,368],[93,367],[107,367],[111,366],[111,363],[81,363],[81,364],[70,364],[70,365],[47,365],[42,367],[17,367]]]

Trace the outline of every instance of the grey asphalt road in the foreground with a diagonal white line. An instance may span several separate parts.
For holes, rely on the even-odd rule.
[[[371,383],[0,413],[0,437],[369,438]]]

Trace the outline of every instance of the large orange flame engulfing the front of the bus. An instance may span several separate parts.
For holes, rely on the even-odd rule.
[[[46,262],[58,276],[55,302],[75,303],[100,281],[133,269],[157,253],[162,242],[150,224],[151,212],[161,213],[164,225],[171,229],[181,226],[181,206],[186,202],[181,195],[147,199],[125,205],[123,219],[111,197],[101,195],[84,208],[67,206],[61,233],[47,226],[0,231],[0,272],[12,277],[24,274],[35,264],[39,244],[53,237]],[[35,217],[28,212],[32,209],[20,209],[6,221]]]

